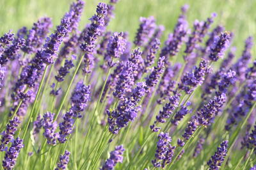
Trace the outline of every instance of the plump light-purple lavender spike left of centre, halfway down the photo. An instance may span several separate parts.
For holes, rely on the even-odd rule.
[[[83,82],[78,82],[71,97],[71,110],[74,118],[81,118],[81,112],[87,106],[90,98],[90,86],[85,86]]]

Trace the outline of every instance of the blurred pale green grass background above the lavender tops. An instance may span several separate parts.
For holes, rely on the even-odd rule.
[[[17,31],[22,26],[31,27],[39,17],[51,17],[54,26],[59,24],[61,17],[68,11],[71,0],[0,0],[0,33],[9,29]],[[102,1],[108,3],[108,1]],[[97,0],[87,0],[82,16],[82,29],[95,12]],[[188,20],[205,20],[212,12],[218,13],[214,25],[221,24],[226,30],[235,34],[233,45],[237,46],[238,54],[244,46],[244,40],[256,33],[256,1],[255,0],[120,0],[116,4],[115,19],[111,20],[108,29],[113,31],[129,31],[130,38],[138,28],[140,16],[154,15],[158,24],[166,27],[164,38],[173,30],[180,13],[180,6],[189,4]],[[253,52],[255,54],[255,50]]]

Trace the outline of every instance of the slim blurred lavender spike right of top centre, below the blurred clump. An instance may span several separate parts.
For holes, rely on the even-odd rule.
[[[144,61],[145,72],[147,72],[147,70],[149,70],[149,67],[154,63],[157,50],[159,49],[159,45],[160,45],[159,39],[156,38],[152,41],[152,45],[149,47],[147,57]]]

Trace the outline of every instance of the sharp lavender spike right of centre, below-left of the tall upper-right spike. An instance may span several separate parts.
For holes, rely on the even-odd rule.
[[[194,70],[194,72],[187,72],[179,84],[179,89],[184,90],[187,94],[191,94],[197,86],[204,82],[204,76],[209,72],[207,61],[202,59],[199,66],[195,66]]]

